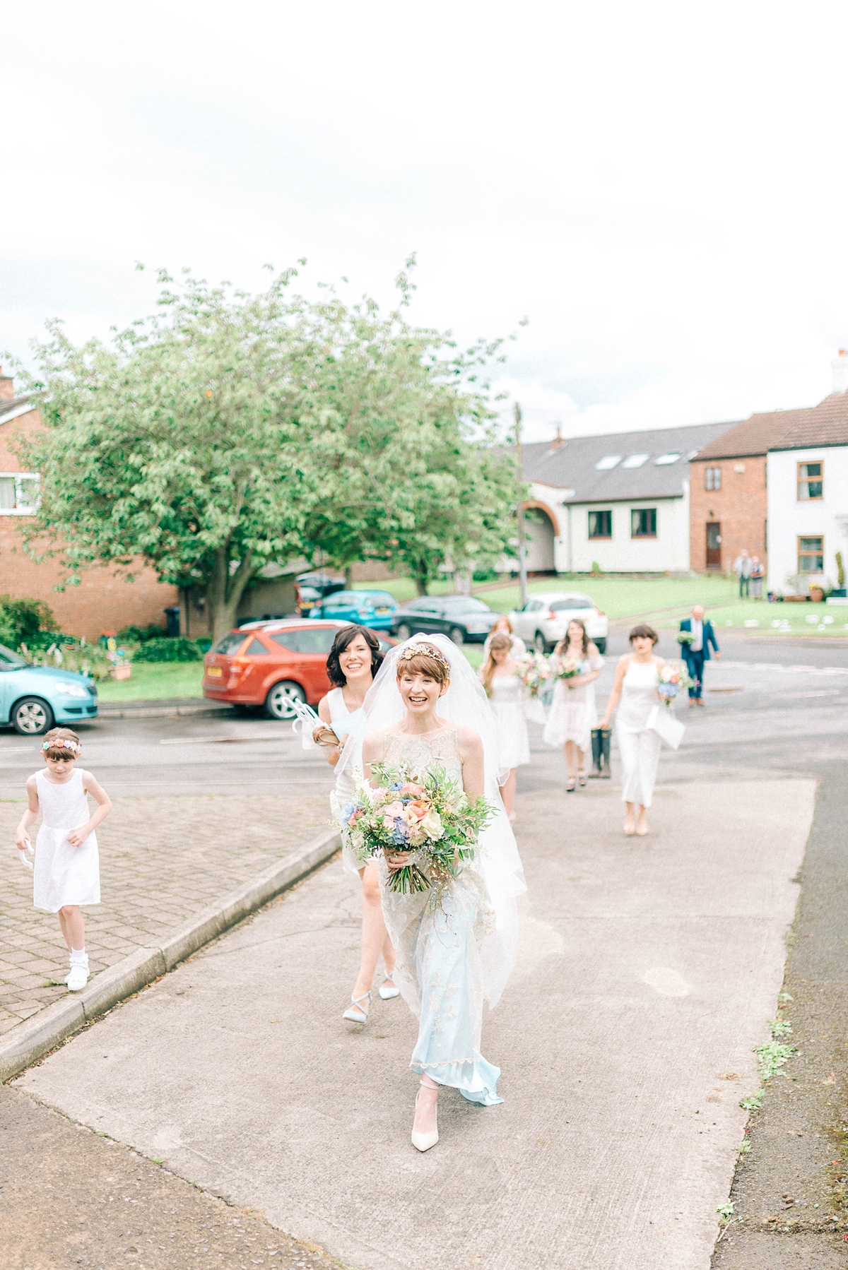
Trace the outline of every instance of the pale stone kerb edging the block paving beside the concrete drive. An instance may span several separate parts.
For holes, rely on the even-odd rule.
[[[159,946],[140,947],[95,974],[81,992],[62,997],[6,1034],[0,1044],[0,1082],[19,1076],[51,1049],[106,1013],[120,1001],[173,970],[224,931],[301,881],[341,846],[338,829],[328,829],[244,883],[222,900],[196,913]]]

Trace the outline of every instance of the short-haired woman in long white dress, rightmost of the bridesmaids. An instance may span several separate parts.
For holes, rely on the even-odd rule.
[[[648,715],[660,701],[657,683],[665,665],[653,655],[659,636],[651,626],[634,626],[631,631],[632,653],[619,658],[615,683],[606,702],[606,714],[600,726],[609,728],[615,706],[620,707],[615,719],[615,739],[622,756],[622,801],[627,805],[624,833],[648,832],[647,808],[653,799],[653,786],[660,766],[661,740],[648,732]]]

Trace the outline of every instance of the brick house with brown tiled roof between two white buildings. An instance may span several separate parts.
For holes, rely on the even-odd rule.
[[[736,423],[689,464],[689,559],[727,573],[742,547],[767,563],[765,456],[806,410],[770,410]]]

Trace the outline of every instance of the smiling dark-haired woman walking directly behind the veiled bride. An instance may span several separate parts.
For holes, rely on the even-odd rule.
[[[327,677],[334,687],[325,697],[322,697],[318,706],[319,718],[324,723],[333,724],[359,710],[381,660],[380,644],[374,631],[366,626],[343,626],[333,640],[327,658]],[[341,752],[341,745],[327,745],[327,762],[334,767]],[[345,773],[336,782],[336,794],[342,803],[347,803],[352,794],[352,784]],[[346,867],[352,871],[355,866],[346,861]],[[362,880],[362,954],[360,973],[351,993],[351,1003],[342,1017],[352,1024],[364,1024],[367,1022],[371,983],[380,952],[385,963],[385,979],[379,989],[380,997],[383,1001],[390,1001],[399,996],[399,992],[392,979],[394,949],[383,921],[376,864],[365,865],[357,871]],[[365,1008],[362,1008],[364,1003]]]

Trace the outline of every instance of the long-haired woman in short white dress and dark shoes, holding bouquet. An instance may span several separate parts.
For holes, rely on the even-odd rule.
[[[587,665],[585,674],[572,679],[557,679],[553,690],[551,715],[544,725],[543,740],[548,745],[563,745],[568,782],[566,794],[573,794],[575,784],[586,784],[584,763],[591,745],[592,728],[596,726],[595,679],[601,672],[604,658],[586,634],[578,617],[572,617],[564,639],[553,650],[552,660],[573,657],[576,662]]]

